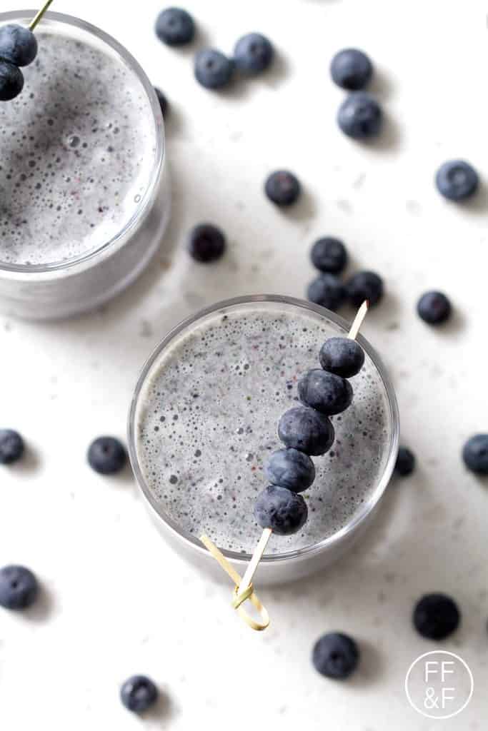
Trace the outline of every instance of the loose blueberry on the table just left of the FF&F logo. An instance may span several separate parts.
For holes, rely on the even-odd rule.
[[[345,680],[358,667],[359,648],[352,637],[341,632],[329,632],[315,643],[312,662],[320,675]]]

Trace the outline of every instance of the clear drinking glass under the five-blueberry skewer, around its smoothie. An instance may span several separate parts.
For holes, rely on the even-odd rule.
[[[214,558],[211,558],[208,551],[203,548],[203,545],[201,545],[198,540],[198,536],[192,535],[185,529],[182,529],[181,526],[179,526],[175,520],[168,515],[168,512],[165,512],[162,504],[157,501],[151,493],[146,478],[144,477],[144,469],[141,465],[141,454],[138,448],[140,431],[138,425],[140,423],[140,415],[143,413],[143,409],[146,408],[145,396],[148,385],[151,382],[151,377],[154,373],[159,371],[159,363],[161,363],[161,360],[164,359],[165,354],[169,351],[169,349],[177,344],[180,339],[183,341],[184,338],[192,336],[192,333],[195,333],[201,325],[206,322],[211,322],[211,320],[215,319],[217,316],[223,317],[225,314],[235,314],[244,310],[249,311],[249,307],[252,307],[255,311],[262,311],[266,308],[272,308],[273,311],[276,311],[278,308],[280,311],[286,312],[292,317],[294,314],[299,315],[306,313],[307,317],[312,317],[318,322],[320,321],[324,324],[326,323],[327,327],[331,330],[331,335],[337,334],[337,336],[343,336],[345,333],[348,333],[349,329],[348,323],[345,322],[342,317],[339,317],[338,315],[312,303],[289,297],[281,297],[278,295],[252,295],[217,303],[214,306],[206,308],[203,311],[188,317],[179,325],[174,327],[173,330],[171,330],[156,347],[156,349],[154,349],[154,352],[152,352],[149,356],[149,360],[147,360],[138,379],[138,384],[135,388],[129,412],[128,431],[130,460],[135,473],[135,478],[143,493],[146,504],[149,507],[152,518],[154,518],[158,528],[174,550],[181,553],[200,569],[211,573],[214,577],[217,577],[217,579],[225,579],[225,575],[216,561],[214,561]],[[299,550],[289,550],[283,553],[272,553],[269,555],[265,554],[258,568],[256,579],[258,584],[282,583],[294,580],[315,572],[320,568],[326,567],[327,564],[330,564],[331,561],[334,561],[334,559],[342,555],[345,550],[350,548],[350,545],[353,544],[353,542],[371,522],[375,510],[383,496],[386,485],[388,485],[398,451],[399,414],[397,400],[388,374],[386,373],[383,363],[381,363],[380,357],[378,357],[375,350],[372,349],[372,346],[370,346],[362,336],[359,336],[358,341],[366,352],[368,362],[378,373],[379,382],[383,385],[383,395],[385,396],[384,401],[387,404],[386,412],[388,419],[388,434],[384,445],[386,458],[383,460],[383,473],[380,474],[380,479],[370,493],[369,499],[364,501],[361,509],[355,512],[350,522],[342,529],[332,535],[329,535],[329,537],[319,539],[317,542],[314,542],[313,545],[307,545],[304,548],[299,548]],[[318,345],[320,346],[320,344]],[[304,369],[305,368],[307,368],[307,363],[304,363]],[[165,447],[166,446],[168,446],[168,451],[170,451],[170,445],[168,444],[165,445]],[[225,447],[222,445],[222,449],[223,448]],[[218,461],[218,454],[210,456]],[[265,485],[266,482],[263,481],[263,487]],[[259,535],[260,534],[257,533],[255,536],[256,542],[258,541]],[[228,560],[236,567],[238,572],[244,572],[245,564],[247,564],[249,558],[251,558],[249,553],[236,553],[224,548],[221,548],[221,550]]]

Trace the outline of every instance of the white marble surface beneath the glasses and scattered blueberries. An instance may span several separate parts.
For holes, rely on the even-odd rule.
[[[23,6],[10,0],[6,9]],[[0,563],[39,575],[45,595],[25,616],[0,613],[0,724],[130,731],[276,724],[307,731],[476,730],[487,716],[486,482],[462,467],[470,433],[487,431],[486,4],[353,0],[185,0],[203,42],[230,51],[248,30],[274,40],[279,61],[263,80],[214,95],[192,77],[193,48],[169,50],[152,25],[162,4],[56,0],[135,53],[173,105],[168,155],[175,205],[151,271],[102,312],[34,325],[0,319],[1,425],[29,444],[22,466],[1,469]],[[200,37],[200,40],[201,40]],[[347,45],[378,68],[388,125],[360,147],[334,122],[342,92],[329,60]],[[442,200],[432,184],[444,159],[473,162],[484,189],[473,205]],[[296,171],[301,204],[283,215],[263,179]],[[204,268],[184,251],[188,228],[215,221],[225,261]],[[98,433],[124,437],[129,399],[150,349],[203,304],[249,292],[301,296],[318,235],[348,243],[354,267],[378,270],[388,295],[364,327],[397,387],[403,441],[416,475],[391,484],[378,523],[324,575],[263,591],[272,626],[254,634],[215,586],[182,564],[149,522],[129,475],[97,477],[85,463]],[[443,330],[414,306],[427,288],[454,300]],[[347,313],[346,313],[347,314]],[[470,664],[476,689],[450,721],[412,711],[410,662],[437,645],[410,627],[414,600],[453,594],[462,628],[443,648]],[[348,683],[321,678],[314,640],[342,629],[364,648]],[[148,673],[167,694],[141,721],[119,683]]]

